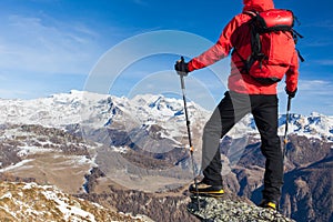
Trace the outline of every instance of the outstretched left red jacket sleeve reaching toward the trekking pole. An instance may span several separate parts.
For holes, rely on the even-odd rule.
[[[189,62],[189,71],[191,72],[193,70],[205,68],[228,57],[232,49],[231,36],[238,28],[238,20],[233,18],[223,29],[218,42]]]

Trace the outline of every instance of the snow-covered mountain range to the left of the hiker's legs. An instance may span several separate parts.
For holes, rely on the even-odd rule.
[[[191,118],[203,119],[208,114],[193,102],[188,105]],[[0,100],[0,123],[54,128],[79,123],[99,129],[128,121],[125,127],[130,129],[138,124],[148,127],[163,122],[163,128],[172,133],[172,128],[183,127],[183,114],[181,100],[151,94],[128,99],[71,91],[34,100]]]

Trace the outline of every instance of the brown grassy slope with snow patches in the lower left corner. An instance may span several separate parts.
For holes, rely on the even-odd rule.
[[[0,221],[148,221],[73,198],[52,185],[37,183],[0,183]]]

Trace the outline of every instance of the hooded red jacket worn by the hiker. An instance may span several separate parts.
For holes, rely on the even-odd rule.
[[[251,9],[255,9],[256,11],[264,11],[274,8],[272,0],[243,0],[243,11],[248,11]],[[223,29],[219,41],[208,51],[203,52],[201,56],[192,59],[189,62],[189,71],[193,71],[213,64],[214,62],[228,57],[233,48],[236,48],[238,51],[241,50],[250,54],[251,38],[249,33],[249,26],[242,26],[250,19],[251,17],[245,13],[240,13],[235,16]],[[269,56],[270,59],[268,61],[264,61],[261,68],[254,67],[251,70],[253,70],[254,72],[264,72],[265,74],[286,74],[286,88],[289,91],[293,92],[297,88],[299,58],[291,36],[290,41],[292,41],[292,43],[289,42],[287,46],[290,47],[287,47],[287,50],[285,50],[284,47],[284,49],[281,49],[279,54],[275,54],[273,58]],[[265,46],[263,42],[263,48]],[[286,51],[290,52],[290,56],[287,57],[290,58],[290,61],[281,62],[282,59],[285,60]],[[232,53],[231,73],[229,75],[228,81],[229,90],[246,94],[276,94],[278,83],[270,85],[261,84],[258,81],[255,81],[251,75],[240,73],[239,70],[242,70],[242,67],[243,62],[241,61],[238,53]]]

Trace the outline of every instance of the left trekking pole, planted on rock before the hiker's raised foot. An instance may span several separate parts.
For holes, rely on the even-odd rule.
[[[181,57],[181,62],[184,62],[184,58]],[[189,120],[189,113],[188,113],[188,104],[186,104],[186,93],[185,93],[185,82],[184,82],[184,75],[180,74],[181,80],[181,88],[182,88],[182,94],[183,94],[183,101],[184,101],[184,111],[185,111],[185,119],[186,119],[186,128],[188,128],[188,137],[189,137],[189,145],[190,145],[190,153],[191,153],[191,160],[192,160],[192,170],[193,170],[193,176],[194,176],[194,185],[196,191],[196,200],[198,200],[198,209],[200,210],[200,201],[199,201],[199,191],[198,191],[198,181],[195,175],[195,167],[194,167],[194,157],[193,157],[193,144],[192,144],[192,137],[191,137],[191,128],[190,128],[190,120]]]

